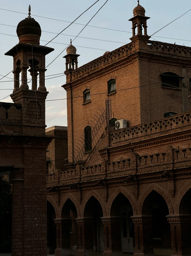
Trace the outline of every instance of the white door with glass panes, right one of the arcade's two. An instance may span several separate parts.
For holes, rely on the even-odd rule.
[[[123,253],[133,253],[133,227],[131,216],[131,208],[122,208],[121,236]]]

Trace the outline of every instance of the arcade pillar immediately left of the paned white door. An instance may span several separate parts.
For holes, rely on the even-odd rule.
[[[121,217],[102,217],[104,229],[103,256],[122,255],[121,251]]]

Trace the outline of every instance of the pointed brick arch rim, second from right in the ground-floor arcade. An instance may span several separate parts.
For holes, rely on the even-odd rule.
[[[151,184],[143,193],[143,195],[140,198],[140,204],[139,204],[139,215],[142,215],[142,206],[144,203],[144,200],[146,199],[146,197],[152,192],[152,191],[156,191],[157,193],[159,193],[165,200],[165,202],[167,203],[168,209],[169,209],[169,214],[173,214],[173,207],[172,207],[172,203],[170,200],[170,197],[168,196],[168,194],[158,185],[156,184]]]

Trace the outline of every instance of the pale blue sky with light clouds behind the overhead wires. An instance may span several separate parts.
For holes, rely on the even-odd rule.
[[[47,33],[54,32],[59,33],[65,27],[69,25],[64,21],[73,21],[76,19],[84,10],[91,6],[96,0],[7,0],[1,1],[0,8],[23,12],[26,14],[20,14],[16,12],[10,12],[0,9],[0,74],[6,75],[13,69],[13,58],[5,56],[8,50],[19,42],[16,27],[18,23],[26,18],[28,15],[28,6],[31,5],[31,16],[38,21],[41,29],[46,32],[42,32],[41,40],[50,41],[56,34]],[[98,11],[106,0],[100,0],[94,5],[88,12],[80,17],[76,23],[86,24],[91,17]],[[190,0],[140,0],[146,10],[146,16],[151,17],[148,20],[148,34],[151,35],[163,26],[170,23],[173,19],[179,17],[184,12],[191,9]],[[109,0],[107,4],[101,9],[101,11],[94,17],[89,25],[122,30],[124,32],[118,32],[114,30],[86,27],[80,34],[81,37],[89,37],[94,39],[102,39],[113,42],[98,41],[86,38],[77,38],[73,45],[77,48],[77,53],[80,54],[78,58],[78,66],[80,67],[87,62],[98,58],[103,55],[105,51],[112,51],[126,43],[129,43],[129,38],[132,36],[132,23],[128,19],[133,17],[133,9],[137,6],[137,0]],[[64,21],[57,21],[47,18],[36,17],[33,15],[43,16],[47,18],[59,19]],[[191,11],[185,14],[180,19],[174,21],[169,26],[162,29],[160,32],[155,34],[153,38],[161,42],[176,43],[185,46],[191,46]],[[80,30],[83,28],[82,25],[72,24],[66,29],[63,34],[59,35],[53,42],[47,46],[53,47],[55,50],[47,55],[46,65],[48,65],[60,52],[64,50],[66,45],[70,43],[70,38],[74,38]],[[130,33],[128,33],[130,32]],[[10,36],[14,35],[14,36]],[[171,37],[176,39],[160,38]],[[183,39],[179,40],[179,39]],[[187,41],[188,40],[188,41]],[[189,41],[190,40],[190,41]],[[41,45],[47,42],[41,41]],[[83,46],[83,47],[80,47]],[[90,47],[90,48],[85,48]],[[97,49],[91,49],[97,48]],[[62,57],[66,55],[66,51],[63,52],[59,58],[54,61],[47,69],[46,76],[52,74],[59,74],[65,71],[65,59]],[[13,78],[12,72],[8,77]],[[30,78],[30,74],[28,74]],[[0,76],[1,78],[1,76]],[[0,81],[9,81],[8,78],[3,78]],[[48,79],[46,80],[46,87],[49,91],[47,99],[60,99],[66,98],[66,91],[61,87],[66,82],[65,76]],[[11,89],[13,88],[13,82],[1,82],[0,89]],[[30,86],[29,86],[30,88]],[[11,90],[0,90],[0,99],[11,94]],[[8,97],[4,102],[12,102],[11,98]],[[53,125],[67,126],[67,103],[66,100],[60,101],[49,101],[46,103],[46,124],[47,127]]]

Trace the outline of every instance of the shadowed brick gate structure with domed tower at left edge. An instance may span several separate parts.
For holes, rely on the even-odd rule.
[[[44,76],[45,56],[54,49],[40,45],[41,28],[31,18],[30,6],[28,18],[17,26],[17,35],[19,43],[6,53],[13,56],[13,103],[0,103],[0,178],[9,175],[12,184],[12,256],[44,256],[47,254],[46,150],[51,142],[45,134],[48,91]]]

